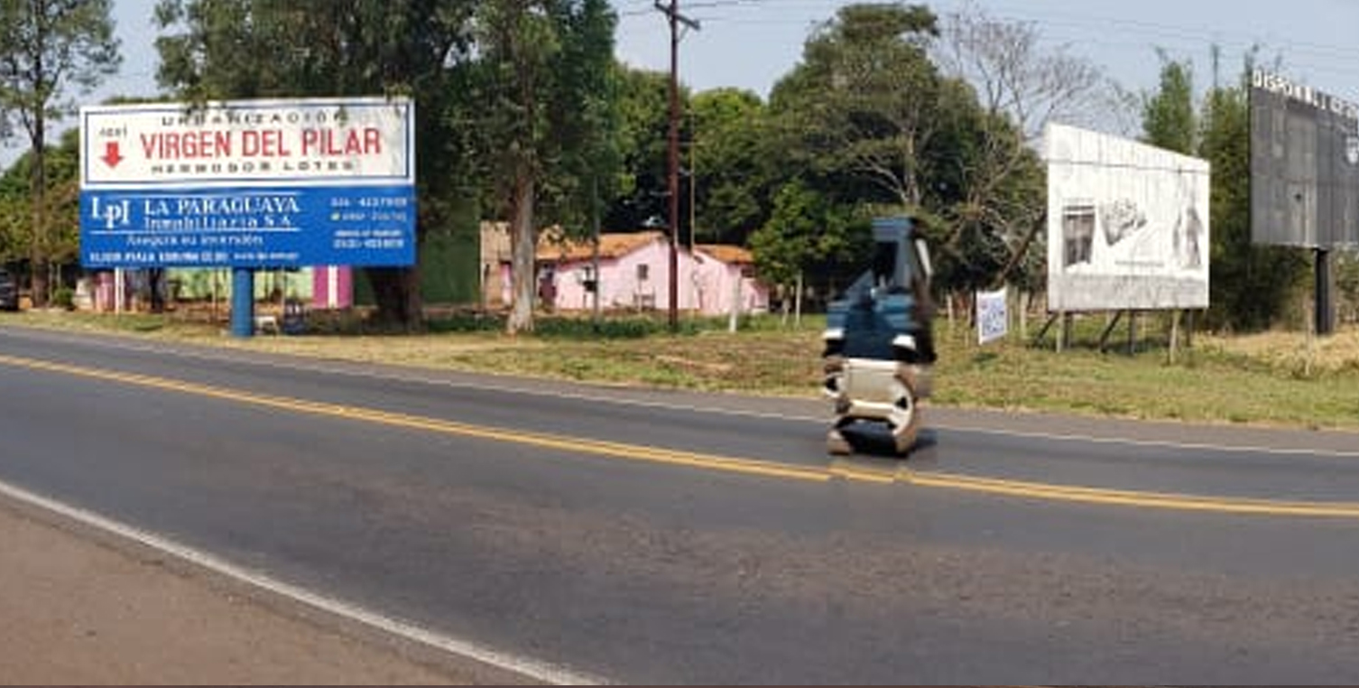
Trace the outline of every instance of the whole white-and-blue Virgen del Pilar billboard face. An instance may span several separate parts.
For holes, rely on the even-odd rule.
[[[414,262],[408,99],[80,110],[87,268]]]

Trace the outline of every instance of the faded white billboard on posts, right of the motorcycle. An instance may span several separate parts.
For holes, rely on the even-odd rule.
[[[1208,162],[1048,125],[1048,310],[1208,307]]]

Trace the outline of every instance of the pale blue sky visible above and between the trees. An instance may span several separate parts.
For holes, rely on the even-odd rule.
[[[397,0],[400,1],[400,0]],[[665,71],[669,29],[654,0],[612,0],[620,14],[618,57]],[[666,0],[669,1],[669,0]],[[964,0],[925,3],[939,14]],[[1051,46],[1090,58],[1125,88],[1155,86],[1157,48],[1196,64],[1197,86],[1211,82],[1208,49],[1223,49],[1226,78],[1241,56],[1261,45],[1283,57],[1283,73],[1333,95],[1359,101],[1359,0],[976,0],[992,16],[1031,22]],[[122,39],[122,71],[96,92],[149,95],[155,87],[156,0],[114,0]],[[694,90],[723,86],[762,97],[802,56],[809,29],[834,15],[845,0],[680,0],[681,12],[701,22],[681,45],[681,79]],[[73,124],[73,122],[67,122]],[[14,144],[11,144],[14,145]],[[5,151],[11,152],[11,151]],[[8,155],[7,155],[8,156]]]

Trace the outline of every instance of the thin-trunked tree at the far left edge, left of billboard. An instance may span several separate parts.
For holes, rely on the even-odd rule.
[[[75,110],[69,88],[90,92],[117,73],[122,56],[113,35],[110,0],[0,0],[0,110],[5,129],[23,129],[33,151],[29,188],[33,233],[29,260],[33,303],[48,303],[48,128]]]

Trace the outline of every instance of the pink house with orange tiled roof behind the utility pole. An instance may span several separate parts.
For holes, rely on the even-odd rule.
[[[554,310],[593,307],[593,245],[563,241],[544,231],[538,242],[540,306]],[[741,313],[769,309],[769,290],[753,277],[750,252],[739,246],[681,246],[678,307],[722,315],[739,303]],[[603,309],[665,310],[670,306],[670,242],[659,231],[602,234],[599,237],[599,306]],[[738,300],[739,299],[739,300]]]

